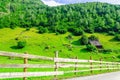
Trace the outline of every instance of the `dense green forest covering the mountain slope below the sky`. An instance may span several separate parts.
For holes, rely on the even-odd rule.
[[[48,7],[40,0],[0,0],[0,3],[0,28],[43,27],[50,32],[71,31],[75,35],[120,32],[119,5],[82,3]]]

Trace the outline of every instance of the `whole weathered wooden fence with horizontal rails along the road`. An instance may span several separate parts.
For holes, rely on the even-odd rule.
[[[92,60],[82,60],[78,59],[68,59],[68,58],[59,58],[58,51],[55,52],[55,57],[45,57],[45,56],[36,56],[30,55],[28,53],[18,54],[13,52],[4,52],[0,51],[0,56],[8,56],[8,57],[19,57],[23,58],[24,64],[0,64],[0,68],[23,68],[23,72],[7,72],[0,73],[0,79],[3,78],[23,78],[23,80],[27,80],[27,77],[40,77],[40,76],[54,76],[54,80],[58,80],[57,75],[64,75],[67,73],[74,73],[75,75],[78,72],[88,72],[91,74],[93,71],[102,71],[102,70],[115,70],[120,69],[119,62],[106,62],[100,59],[99,61]],[[47,60],[53,61],[54,64],[28,64],[28,59],[38,59],[38,60]],[[83,64],[84,63],[84,64]],[[94,64],[94,65],[93,65]],[[28,72],[28,68],[54,68],[54,71],[48,72]],[[59,68],[74,68],[73,71],[59,71]],[[85,70],[78,70],[78,68],[89,68]]]

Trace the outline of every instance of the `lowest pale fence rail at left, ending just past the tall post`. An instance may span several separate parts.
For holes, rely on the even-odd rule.
[[[63,75],[63,71],[56,72],[10,72],[0,73],[0,79],[3,78],[22,78],[22,77],[39,77],[39,76],[52,76],[52,75]]]

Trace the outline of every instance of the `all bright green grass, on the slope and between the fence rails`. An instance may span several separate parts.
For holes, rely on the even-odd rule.
[[[97,53],[97,52],[88,52],[85,50],[86,46],[82,46],[79,44],[80,36],[73,36],[73,40],[70,41],[66,38],[70,33],[56,35],[55,33],[45,33],[38,34],[35,28],[30,29],[30,31],[25,31],[23,34],[21,32],[25,31],[24,28],[16,28],[9,29],[4,28],[0,29],[0,51],[9,51],[9,52],[17,52],[24,53],[28,52],[33,55],[40,56],[50,56],[54,57],[54,51],[59,51],[59,57],[63,58],[75,58],[78,56],[79,59],[89,59],[90,56],[93,57],[94,60],[99,60],[100,57],[103,58],[104,61],[120,61],[117,56],[120,52],[120,42],[113,41],[114,36],[109,36],[107,34],[99,34],[94,33],[96,35],[101,44],[105,49],[112,49],[114,52],[111,53]],[[90,36],[92,34],[86,34]],[[23,49],[15,49],[17,45],[16,37],[24,38],[27,41],[27,45]],[[69,50],[67,46],[64,44],[72,45],[72,51]],[[49,49],[45,49],[45,47],[49,46]],[[116,58],[114,58],[116,57]],[[20,58],[9,59],[9,57],[0,56],[0,64],[23,64],[23,60]],[[51,61],[29,61],[31,64],[53,64]],[[85,68],[84,68],[85,69]],[[74,70],[73,68],[68,69],[59,69],[59,70]],[[82,70],[82,68],[80,69]],[[23,69],[0,69],[0,72],[22,72]],[[29,69],[28,71],[54,71],[54,69]],[[94,71],[94,74],[106,72],[102,71]],[[76,76],[85,76],[90,75],[90,73],[78,73]],[[63,77],[73,77],[73,73],[65,74],[63,76],[59,76],[59,78]],[[40,78],[28,78],[28,80],[49,80],[53,77],[40,77]],[[22,79],[5,79],[5,80],[22,80]]]

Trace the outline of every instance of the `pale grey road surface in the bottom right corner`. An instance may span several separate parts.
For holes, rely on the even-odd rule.
[[[78,77],[78,78],[72,78],[66,80],[120,80],[120,71],[93,75],[93,76]]]

